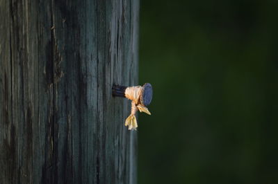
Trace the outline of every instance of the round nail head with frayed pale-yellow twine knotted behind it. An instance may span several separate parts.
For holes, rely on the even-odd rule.
[[[124,92],[126,98],[132,100],[131,114],[126,118],[125,126],[129,126],[129,130],[136,130],[138,127],[136,120],[136,111],[144,112],[149,115],[151,113],[147,109],[147,105],[152,101],[152,85],[149,83],[144,86],[131,86],[127,87]]]

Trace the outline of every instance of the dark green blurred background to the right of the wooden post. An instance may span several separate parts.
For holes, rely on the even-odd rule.
[[[138,183],[278,183],[278,2],[140,1]]]

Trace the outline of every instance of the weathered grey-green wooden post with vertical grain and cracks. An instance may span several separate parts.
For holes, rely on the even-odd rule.
[[[0,183],[136,183],[138,0],[0,0]]]

